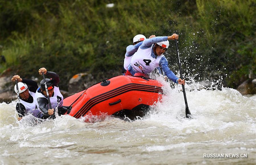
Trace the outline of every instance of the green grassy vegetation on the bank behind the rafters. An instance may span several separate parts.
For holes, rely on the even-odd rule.
[[[40,77],[38,69],[46,67],[67,89],[63,80],[76,73],[91,72],[101,80],[121,71],[135,35],[177,33],[184,70],[189,67],[190,75],[203,79],[223,76],[225,86],[235,88],[256,74],[255,8],[254,0],[0,0],[6,58],[0,71],[11,68],[30,78]],[[166,56],[175,71],[171,45]]]

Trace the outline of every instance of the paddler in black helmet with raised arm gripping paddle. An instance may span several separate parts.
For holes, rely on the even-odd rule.
[[[40,87],[36,91],[36,105],[40,109],[40,111],[47,117],[50,117],[54,114],[55,108],[58,108],[58,115],[63,115],[67,112],[67,107],[63,106],[63,96],[59,90],[59,75],[55,72],[47,71],[46,68],[42,67],[38,70],[39,74],[50,77],[50,79],[46,80],[46,85],[48,89],[48,94],[51,102],[52,109],[49,109],[48,98],[46,93],[46,88],[44,84],[44,80],[40,82]]]

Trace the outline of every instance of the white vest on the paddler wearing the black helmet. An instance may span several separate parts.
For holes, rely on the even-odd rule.
[[[41,89],[39,89],[41,90]],[[51,101],[51,108],[55,109],[57,106],[58,107],[62,107],[63,106],[63,96],[61,94],[61,92],[59,91],[59,87],[54,86],[53,89],[54,95],[50,97],[50,101]],[[38,107],[38,109],[40,109],[37,99],[38,98],[46,98],[46,96],[44,96],[41,92],[36,91],[36,105]],[[48,100],[48,99],[47,99]],[[47,104],[48,109],[50,109],[49,104]]]

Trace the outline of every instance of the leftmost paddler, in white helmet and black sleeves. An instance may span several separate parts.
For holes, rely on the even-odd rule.
[[[20,115],[33,115],[34,117],[43,119],[44,115],[36,107],[35,93],[38,85],[33,80],[22,79],[19,75],[14,75],[11,81],[18,81],[18,91],[16,85],[14,86],[15,93],[19,92],[20,96]],[[19,105],[16,104],[16,111],[19,113]],[[22,117],[18,117],[21,120]]]

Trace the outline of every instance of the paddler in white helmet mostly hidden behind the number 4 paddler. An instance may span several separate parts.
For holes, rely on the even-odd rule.
[[[151,35],[149,38],[156,37],[155,35]],[[126,47],[125,59],[123,61],[123,71],[122,73],[125,74],[127,71],[128,66],[131,64],[131,58],[135,52],[137,52],[139,46],[141,46],[142,42],[146,39],[146,37],[142,34],[135,35],[133,37],[133,45],[129,45]],[[160,71],[160,68],[158,68]],[[160,71],[161,72],[161,71]]]

